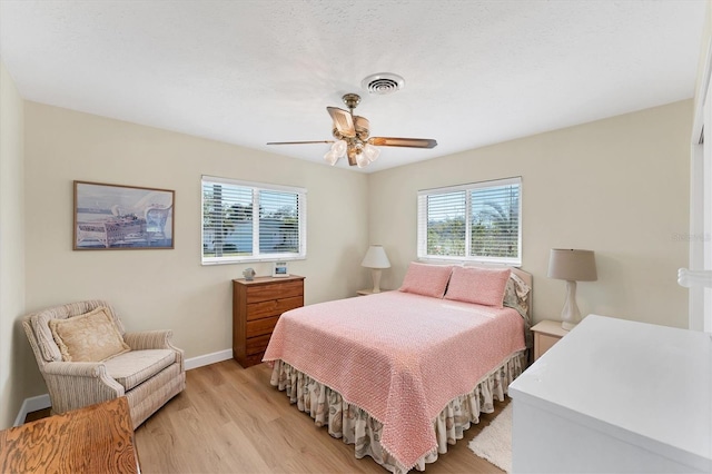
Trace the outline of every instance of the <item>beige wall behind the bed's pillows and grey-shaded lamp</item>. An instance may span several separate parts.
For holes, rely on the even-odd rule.
[[[688,325],[692,100],[374,174],[370,241],[384,245],[397,287],[416,258],[419,189],[522,176],[523,264],[534,318],[558,319],[565,284],[546,277],[554,247],[596,253],[599,280],[580,283],[582,314]],[[473,124],[472,132],[476,132]]]

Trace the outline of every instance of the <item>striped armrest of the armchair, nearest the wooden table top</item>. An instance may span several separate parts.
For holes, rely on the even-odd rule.
[[[50,362],[43,368],[52,413],[65,413],[125,395],[100,362]]]

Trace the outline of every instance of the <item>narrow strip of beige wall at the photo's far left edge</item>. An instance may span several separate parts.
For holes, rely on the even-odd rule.
[[[19,317],[24,309],[23,103],[0,62],[0,428],[11,426],[27,395],[28,364]]]

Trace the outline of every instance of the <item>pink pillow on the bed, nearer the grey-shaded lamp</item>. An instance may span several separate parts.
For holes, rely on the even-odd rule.
[[[455,267],[445,299],[502,307],[508,268]]]

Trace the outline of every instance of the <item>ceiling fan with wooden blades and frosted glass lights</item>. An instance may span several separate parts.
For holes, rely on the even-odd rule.
[[[332,166],[339,158],[348,157],[350,166],[363,168],[375,161],[380,154],[378,147],[406,147],[406,148],[435,148],[437,141],[432,138],[397,138],[397,137],[368,137],[368,120],[355,116],[354,109],[360,102],[356,93],[346,93],[343,98],[348,110],[337,107],[327,107],[326,110],[334,120],[332,134],[336,140],[317,141],[270,141],[267,145],[303,145],[303,144],[333,144],[332,149],[324,155],[324,159]]]

